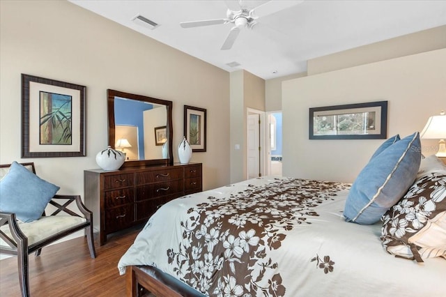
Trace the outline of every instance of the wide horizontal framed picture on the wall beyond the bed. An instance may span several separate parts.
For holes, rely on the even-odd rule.
[[[309,109],[309,139],[386,138],[387,101]]]

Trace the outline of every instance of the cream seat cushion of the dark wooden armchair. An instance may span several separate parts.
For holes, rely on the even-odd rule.
[[[43,241],[45,238],[72,227],[76,227],[84,222],[86,222],[85,218],[76,217],[74,215],[49,215],[47,217],[41,217],[33,222],[18,222],[18,224],[22,232],[28,237],[28,245],[33,245],[34,243]],[[0,229],[7,236],[12,238],[8,224],[3,225]],[[0,244],[7,245],[1,238]]]

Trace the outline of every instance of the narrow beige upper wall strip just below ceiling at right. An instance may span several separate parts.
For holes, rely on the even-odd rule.
[[[308,75],[374,63],[446,47],[446,25],[307,61]]]

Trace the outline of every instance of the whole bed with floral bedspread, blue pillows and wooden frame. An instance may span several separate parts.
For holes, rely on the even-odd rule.
[[[180,197],[118,269],[128,296],[446,296],[446,166],[414,132],[353,184],[266,176]]]

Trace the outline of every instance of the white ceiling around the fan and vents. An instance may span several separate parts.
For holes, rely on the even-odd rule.
[[[224,70],[245,69],[263,79],[306,71],[308,59],[446,24],[445,0],[306,0],[259,18],[254,29],[240,32],[231,50],[220,50],[233,24],[184,29],[180,22],[225,18],[225,1],[70,2]],[[268,1],[242,2],[254,8]],[[137,15],[160,26],[135,24]],[[234,61],[240,66],[226,65]]]

